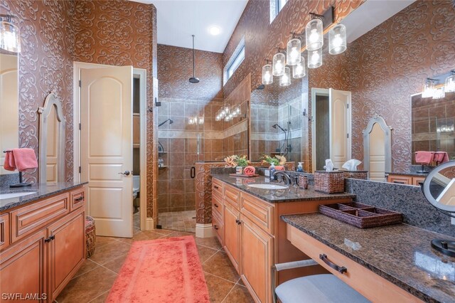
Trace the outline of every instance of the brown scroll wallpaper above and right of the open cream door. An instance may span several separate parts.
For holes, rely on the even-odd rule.
[[[147,70],[147,105],[154,105],[156,9],[133,1],[75,2],[75,61]],[[147,217],[153,218],[157,168],[153,113],[147,112]]]

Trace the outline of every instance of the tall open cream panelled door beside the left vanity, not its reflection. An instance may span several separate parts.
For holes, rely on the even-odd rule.
[[[81,69],[81,180],[97,235],[133,235],[132,66]]]

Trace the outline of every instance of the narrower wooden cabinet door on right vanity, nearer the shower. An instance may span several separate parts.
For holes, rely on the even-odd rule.
[[[224,225],[225,230],[225,252],[228,254],[235,270],[240,273],[240,220],[239,212],[225,203],[224,209]]]

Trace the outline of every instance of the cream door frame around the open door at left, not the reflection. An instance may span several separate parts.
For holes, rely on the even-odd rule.
[[[85,62],[74,62],[73,65],[73,179],[74,181],[80,181],[80,70],[82,68],[112,68],[115,65],[105,65],[96,63],[85,63]],[[146,229],[146,204],[147,204],[147,140],[146,140],[146,91],[147,91],[147,71],[144,68],[133,68],[133,76],[139,77],[140,90],[139,90],[139,110],[140,110],[140,124],[141,124],[141,141],[140,141],[140,165],[141,165],[141,190],[139,191],[139,211],[141,215],[141,230]],[[133,193],[132,193],[133,194]],[[86,213],[90,216],[90,213],[85,209]]]

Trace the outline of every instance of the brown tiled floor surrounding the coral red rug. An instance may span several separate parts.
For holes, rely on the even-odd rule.
[[[133,238],[97,237],[94,255],[85,260],[75,277],[60,292],[56,302],[105,302],[132,242],[180,235],[193,234],[164,229],[140,231],[139,228],[134,228]],[[196,238],[196,243],[210,301],[253,302],[218,240]]]

